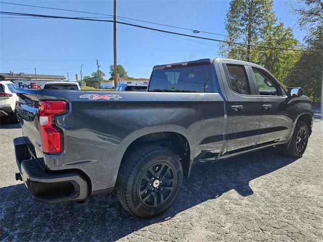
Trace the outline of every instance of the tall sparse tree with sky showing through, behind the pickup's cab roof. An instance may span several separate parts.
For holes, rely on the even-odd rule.
[[[232,43],[220,45],[220,53],[230,58],[250,61],[251,46],[263,39],[265,27],[275,23],[273,0],[232,0],[227,12],[225,40],[243,42],[247,46]]]

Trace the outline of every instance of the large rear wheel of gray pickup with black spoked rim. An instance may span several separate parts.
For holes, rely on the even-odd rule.
[[[116,192],[131,214],[148,219],[164,213],[174,203],[182,182],[181,162],[171,150],[145,146],[123,160]]]

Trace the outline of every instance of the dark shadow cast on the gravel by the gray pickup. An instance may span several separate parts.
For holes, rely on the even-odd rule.
[[[131,216],[115,194],[93,197],[84,204],[49,205],[34,202],[23,184],[5,187],[0,189],[1,240],[117,240],[232,189],[250,196],[249,181],[295,160],[270,148],[220,162],[197,163],[175,204],[151,220]]]

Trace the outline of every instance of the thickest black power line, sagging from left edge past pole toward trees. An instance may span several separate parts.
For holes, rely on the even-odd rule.
[[[25,13],[13,13],[13,12],[0,12],[0,14],[19,15],[19,16],[32,16],[32,17],[47,17],[47,18],[56,18],[56,19],[74,19],[74,20],[110,22],[110,23],[113,22],[112,20],[75,18],[75,17],[52,16],[52,15],[39,15],[39,14],[25,14]],[[281,48],[281,47],[274,47],[274,46],[265,46],[265,45],[257,45],[257,44],[246,44],[246,43],[239,43],[239,42],[235,42],[235,41],[228,41],[228,40],[221,40],[221,39],[213,39],[213,38],[208,38],[208,37],[195,36],[195,35],[183,34],[183,33],[178,33],[178,32],[173,32],[173,31],[168,31],[168,30],[156,29],[156,28],[151,28],[151,27],[137,25],[137,24],[131,24],[131,23],[125,23],[125,22],[120,22],[120,21],[117,21],[117,23],[124,24],[124,25],[128,25],[128,26],[133,26],[133,27],[137,27],[137,28],[154,30],[154,31],[157,31],[157,32],[164,32],[164,33],[176,34],[176,35],[181,35],[181,36],[186,36],[186,37],[191,37],[191,38],[205,39],[205,40],[210,40],[210,41],[218,41],[218,42],[229,43],[229,44],[237,44],[237,45],[243,45],[243,46],[252,46],[252,47],[258,47],[258,48],[267,48],[267,49],[280,49],[280,50],[291,50],[291,51],[306,51],[306,50],[302,50],[302,49]]]

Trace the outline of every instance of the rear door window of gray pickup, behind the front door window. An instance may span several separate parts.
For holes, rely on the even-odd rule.
[[[244,66],[233,64],[227,64],[226,66],[231,90],[242,95],[250,95],[248,77]]]

